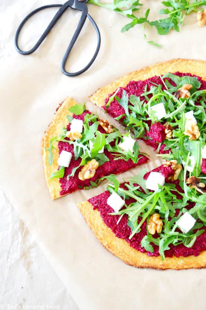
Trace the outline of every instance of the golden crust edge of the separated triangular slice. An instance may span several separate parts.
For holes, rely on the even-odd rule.
[[[42,155],[43,155],[43,164],[44,164],[44,175],[46,179],[46,184],[49,188],[49,193],[51,196],[51,199],[54,200],[59,197],[63,197],[64,195],[60,195],[61,186],[59,183],[59,179],[52,179],[50,180],[50,174],[54,171],[56,171],[59,167],[57,160],[59,158],[59,149],[58,149],[58,143],[54,142],[54,146],[56,149],[53,149],[53,164],[52,166],[49,165],[48,162],[48,151],[46,151],[45,148],[49,147],[49,141],[51,138],[59,135],[59,133],[62,130],[62,127],[66,124],[66,116],[71,115],[68,111],[69,108],[71,108],[73,105],[76,105],[77,102],[75,102],[72,98],[67,97],[57,109],[55,116],[48,126],[47,130],[44,133],[44,137],[42,139]]]

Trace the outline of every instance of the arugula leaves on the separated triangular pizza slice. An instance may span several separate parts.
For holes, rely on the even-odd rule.
[[[74,113],[75,115],[81,115],[85,111],[85,107],[83,107],[81,104],[77,104],[69,109],[71,113]],[[67,115],[68,122],[71,123],[73,117],[70,115]],[[83,131],[82,131],[82,137],[81,139],[77,139],[75,141],[71,141],[67,138],[67,129],[64,126],[62,128],[62,133],[54,138],[50,139],[49,148],[47,148],[47,151],[49,152],[48,161],[49,165],[51,166],[53,163],[53,149],[55,149],[53,143],[56,142],[66,142],[68,144],[73,145],[73,152],[74,152],[74,158],[77,160],[78,158],[81,158],[81,163],[79,166],[76,166],[72,169],[71,174],[67,175],[67,179],[69,179],[70,176],[74,176],[76,170],[80,166],[84,166],[88,161],[91,159],[95,159],[97,162],[99,162],[99,166],[101,166],[103,163],[108,162],[109,158],[104,153],[99,153],[99,151],[104,147],[104,149],[107,149],[112,155],[114,155],[114,160],[117,159],[124,159],[125,161],[128,161],[131,159],[134,163],[137,163],[139,158],[139,146],[138,143],[135,141],[133,152],[130,150],[128,152],[122,150],[119,148],[118,144],[120,141],[122,141],[122,135],[120,132],[114,128],[114,131],[112,133],[101,133],[98,130],[99,118],[97,114],[89,114],[86,113],[84,117],[83,122]],[[93,143],[92,149],[90,149],[89,141]],[[111,145],[111,142],[114,141],[114,145]],[[143,154],[143,153],[141,153]],[[63,178],[64,176],[65,167],[61,166],[58,171],[53,172],[50,175],[50,179],[54,178]],[[91,183],[91,182],[90,182]],[[97,186],[96,183],[92,182],[91,186]],[[90,187],[88,187],[89,189]]]

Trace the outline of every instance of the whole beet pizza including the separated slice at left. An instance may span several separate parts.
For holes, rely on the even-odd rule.
[[[107,179],[107,191],[78,204],[107,250],[140,268],[206,267],[206,62],[155,64],[90,100],[127,134],[67,98],[42,143],[51,198]],[[138,139],[163,163],[120,184],[116,174],[149,160]]]

